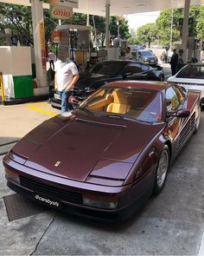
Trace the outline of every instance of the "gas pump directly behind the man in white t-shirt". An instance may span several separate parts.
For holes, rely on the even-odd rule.
[[[59,58],[70,58],[79,64],[81,69],[85,69],[90,59],[91,27],[68,24],[59,25],[56,30],[60,32]]]

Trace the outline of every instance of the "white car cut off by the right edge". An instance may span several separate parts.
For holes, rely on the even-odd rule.
[[[168,81],[175,82],[188,90],[201,91],[201,108],[204,107],[204,63],[189,63],[175,75],[170,76]]]

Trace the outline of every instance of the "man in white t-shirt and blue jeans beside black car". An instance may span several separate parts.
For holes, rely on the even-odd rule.
[[[55,62],[55,87],[61,98],[61,113],[73,109],[68,98],[73,95],[73,86],[79,78],[77,66],[71,60]]]

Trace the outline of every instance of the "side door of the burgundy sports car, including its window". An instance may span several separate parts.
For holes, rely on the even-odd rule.
[[[183,119],[181,117],[172,116],[171,114],[182,108],[185,99],[180,89],[175,86],[171,86],[166,89],[166,116],[168,123],[168,136],[172,141],[173,153],[176,153],[178,147],[178,138],[183,125]]]

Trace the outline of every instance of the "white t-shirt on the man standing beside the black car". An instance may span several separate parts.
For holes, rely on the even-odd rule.
[[[73,80],[73,75],[78,75],[79,71],[73,62],[55,62],[55,75],[57,79],[57,89],[63,91],[69,82]]]

